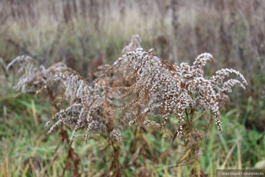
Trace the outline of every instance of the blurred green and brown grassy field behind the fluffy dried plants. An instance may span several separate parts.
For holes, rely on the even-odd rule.
[[[45,135],[45,122],[54,114],[51,105],[41,96],[14,91],[17,76],[6,65],[16,56],[30,55],[45,67],[62,61],[86,77],[94,67],[113,63],[133,34],[163,60],[191,64],[209,52],[216,59],[206,66],[209,76],[233,68],[246,77],[246,90],[235,87],[231,102],[221,108],[224,131],[212,126],[203,142],[200,165],[209,176],[221,168],[265,168],[265,1],[2,0],[0,176],[57,176],[66,159],[65,145],[53,158],[58,135]],[[139,157],[139,168],[128,168],[128,176],[140,176],[141,166],[148,166],[153,176],[189,176],[188,167],[167,169],[181,147],[171,145],[165,134],[146,134],[155,157]],[[125,152],[131,136],[123,133],[123,161],[130,160]],[[98,144],[77,139],[73,145],[89,176],[101,176],[110,165],[108,152],[95,148]]]

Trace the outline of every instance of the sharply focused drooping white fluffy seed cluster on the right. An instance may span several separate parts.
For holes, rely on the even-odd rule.
[[[182,137],[181,122],[184,121],[185,109],[189,107],[191,111],[212,109],[216,117],[217,127],[222,130],[218,104],[228,101],[226,94],[231,92],[233,85],[238,84],[245,88],[242,83],[247,84],[247,82],[242,74],[232,69],[222,69],[217,71],[210,80],[207,80],[204,78],[203,67],[207,60],[214,61],[211,54],[199,55],[193,66],[189,66],[188,63],[181,63],[178,66],[162,60],[153,51],[153,49],[147,51],[142,48],[130,50],[118,58],[104,74],[94,80],[97,83],[119,63],[126,60],[126,69],[131,69],[126,80],[133,80],[134,83],[127,87],[121,87],[124,93],[120,98],[132,92],[136,93],[136,96],[129,104],[119,110],[132,105],[139,105],[144,108],[139,115],[129,122],[129,125],[133,125],[137,119],[143,121],[147,114],[159,114],[163,116],[158,128],[160,130],[167,121],[167,117],[170,114],[175,114],[179,120],[177,135]],[[229,73],[239,76],[242,83],[235,79],[223,82],[224,77],[228,76]]]

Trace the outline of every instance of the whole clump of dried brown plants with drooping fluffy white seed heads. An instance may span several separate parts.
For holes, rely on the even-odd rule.
[[[56,97],[53,103],[61,108],[47,122],[46,126],[54,121],[48,134],[56,126],[64,124],[72,129],[70,144],[79,130],[86,130],[85,142],[96,134],[107,141],[112,148],[108,175],[112,171],[119,176],[122,168],[126,167],[122,167],[118,160],[120,147],[124,146],[121,134],[124,128],[138,126],[139,131],[159,131],[170,116],[178,119],[173,141],[179,136],[187,147],[177,165],[185,161],[184,164],[196,167],[201,151],[200,142],[206,136],[202,131],[194,130],[192,123],[211,109],[217,128],[222,130],[218,105],[229,101],[227,94],[234,85],[245,88],[243,84],[247,85],[247,82],[242,74],[233,69],[221,69],[210,80],[205,79],[203,67],[208,60],[214,61],[209,53],[199,55],[192,66],[188,63],[177,65],[162,60],[154,49],[142,49],[140,42],[140,36],[133,35],[131,43],[122,50],[125,54],[111,66],[102,65],[92,71],[87,79],[97,76],[95,84],[90,84],[87,79],[62,63],[56,63],[48,69],[43,66],[37,68],[32,58],[21,56],[8,67],[19,63],[18,73],[25,72],[16,89],[27,92],[28,87],[40,88],[37,94],[45,88],[53,91],[53,97]],[[224,81],[229,74],[237,75],[241,81]],[[198,110],[203,113],[195,118]],[[120,116],[115,113],[117,111],[121,112]],[[160,125],[146,119],[147,115],[161,116]],[[210,122],[206,127],[210,126]],[[134,161],[132,159],[127,166]],[[193,172],[198,175],[200,168],[194,168]]]

